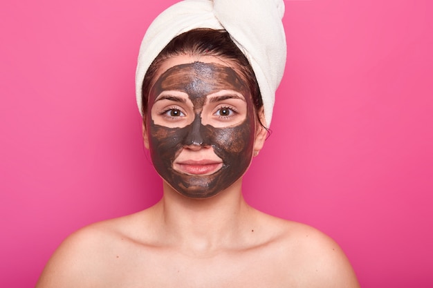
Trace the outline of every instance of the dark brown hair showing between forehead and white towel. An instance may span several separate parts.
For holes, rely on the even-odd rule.
[[[143,115],[147,114],[147,98],[149,90],[154,84],[154,79],[160,64],[166,59],[178,55],[210,55],[219,57],[223,61],[228,61],[234,64],[234,68],[241,73],[241,76],[246,79],[248,88],[250,89],[252,101],[255,104],[256,113],[263,107],[261,100],[259,84],[255,77],[254,70],[245,55],[234,44],[230,35],[225,30],[214,30],[208,28],[199,28],[190,30],[181,35],[178,35],[165,46],[150,65],[145,79],[142,83],[142,111]],[[145,117],[143,117],[145,119]],[[257,117],[260,121],[260,118]]]

